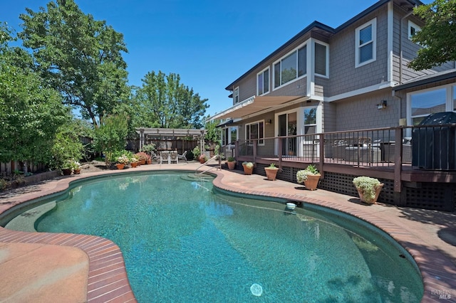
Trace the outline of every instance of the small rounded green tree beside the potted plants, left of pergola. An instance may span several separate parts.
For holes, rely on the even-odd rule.
[[[95,129],[93,145],[96,151],[105,154],[106,164],[110,164],[113,154],[125,149],[128,134],[128,117],[125,114],[107,115],[100,119],[100,127]]]

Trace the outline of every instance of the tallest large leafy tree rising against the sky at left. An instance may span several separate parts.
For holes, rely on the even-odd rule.
[[[100,117],[128,99],[123,35],[83,14],[73,0],[46,7],[21,14],[19,38],[33,50],[36,69],[61,92],[63,102],[97,127]]]

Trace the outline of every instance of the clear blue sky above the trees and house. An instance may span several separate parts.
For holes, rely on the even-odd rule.
[[[0,21],[21,31],[19,14],[48,0],[1,0]],[[208,115],[230,107],[224,90],[313,21],[336,28],[375,0],[76,0],[85,14],[123,33],[130,85],[146,73],[177,73],[209,99]],[[423,1],[430,3],[429,0]]]

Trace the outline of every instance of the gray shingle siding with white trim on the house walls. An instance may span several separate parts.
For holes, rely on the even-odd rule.
[[[407,100],[403,91],[398,92],[398,95],[393,97],[392,87],[423,75],[432,75],[442,70],[455,68],[455,62],[445,63],[430,70],[415,71],[408,68],[408,63],[415,58],[420,48],[420,46],[408,39],[408,20],[411,19],[418,26],[423,26],[423,23],[413,15],[406,16],[408,11],[402,9],[399,4],[399,1],[395,1],[395,4],[393,4],[393,28],[388,28],[390,26],[388,23],[390,21],[388,8],[391,5],[386,3],[386,1],[379,1],[378,5],[372,6],[375,9],[366,10],[366,14],[356,16],[356,18],[344,23],[343,26],[336,30],[328,27],[309,26],[311,28],[309,32],[300,37],[299,35],[295,36],[284,46],[271,53],[264,62],[261,61],[261,63],[255,65],[252,70],[249,70],[248,73],[245,73],[234,82],[234,87],[239,86],[239,101],[257,94],[257,73],[266,67],[269,67],[270,80],[269,93],[266,95],[305,96],[309,90],[308,77],[312,75],[306,75],[304,78],[274,90],[273,66],[276,60],[283,58],[284,55],[301,46],[309,38],[313,38],[329,45],[328,78],[318,75],[313,76],[314,95],[324,97],[323,99],[325,100],[321,107],[323,132],[397,126],[399,119],[406,117]],[[375,60],[356,68],[356,28],[372,21],[374,18],[376,20]],[[400,24],[401,21],[402,26]],[[388,37],[391,32],[393,36]],[[390,49],[388,48],[389,39],[392,39],[393,43],[391,58]],[[309,45],[308,51],[310,51]],[[307,62],[307,65],[311,65],[311,62]],[[391,75],[388,75],[389,72]],[[390,79],[389,76],[391,76]],[[388,83],[388,80],[391,83]],[[385,85],[386,88],[383,86],[382,90],[375,90],[374,92],[363,90],[367,87],[379,87],[380,85]],[[389,85],[392,87],[388,87]],[[432,85],[423,85],[420,90],[430,86]],[[355,92],[360,95],[347,97],[355,95]],[[402,96],[402,99],[400,99],[400,96]],[[338,100],[336,100],[336,97]],[[327,102],[328,100],[331,100],[331,102]],[[378,110],[377,105],[382,100],[387,100],[388,106],[383,110]],[[242,124],[260,119],[272,119],[274,121],[274,114],[277,112],[293,110],[299,106],[315,105],[316,102],[318,101],[314,100],[312,103],[304,102],[299,105],[286,106],[275,112],[244,120]],[[265,127],[265,136],[274,136],[274,127],[272,125]]]

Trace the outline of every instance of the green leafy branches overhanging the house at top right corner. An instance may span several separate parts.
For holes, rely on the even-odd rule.
[[[409,66],[424,70],[456,60],[456,1],[435,0],[418,6],[414,14],[425,20],[425,26],[412,40],[423,46]]]

